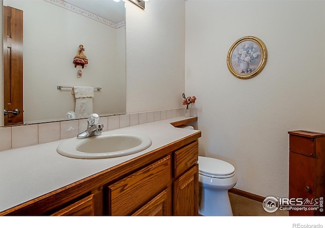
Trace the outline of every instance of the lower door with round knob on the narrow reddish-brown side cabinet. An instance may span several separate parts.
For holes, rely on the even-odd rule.
[[[290,152],[289,198],[315,199],[315,159]],[[314,211],[290,210],[289,215],[313,215]]]

